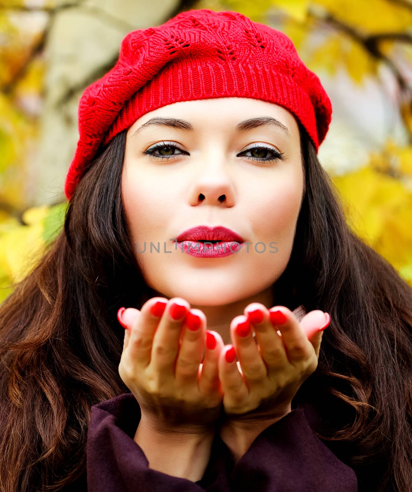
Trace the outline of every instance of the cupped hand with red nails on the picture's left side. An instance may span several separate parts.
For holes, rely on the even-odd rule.
[[[118,316],[127,327],[118,371],[139,403],[142,421],[165,432],[203,434],[213,428],[222,410],[218,360],[224,343],[217,332],[208,332],[216,344],[205,348],[205,314],[180,297],[153,297],[141,310],[119,310]]]

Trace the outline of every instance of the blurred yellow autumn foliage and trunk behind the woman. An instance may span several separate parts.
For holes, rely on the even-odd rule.
[[[0,303],[62,227],[83,90],[127,32],[197,8],[292,39],[332,102],[318,155],[348,224],[412,286],[412,0],[0,0]]]

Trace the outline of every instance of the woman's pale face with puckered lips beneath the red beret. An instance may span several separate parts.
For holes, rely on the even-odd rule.
[[[153,118],[178,121],[142,127]],[[145,114],[127,131],[122,199],[147,284],[192,306],[258,296],[289,261],[303,185],[298,125],[281,106],[223,97]],[[192,255],[189,243],[177,247],[180,233],[200,225],[227,227],[245,243],[226,256],[196,256],[202,246],[194,242]]]

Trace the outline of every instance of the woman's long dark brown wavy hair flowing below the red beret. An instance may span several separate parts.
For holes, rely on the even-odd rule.
[[[305,190],[274,296],[290,309],[322,309],[331,323],[318,367],[295,399],[317,406],[317,435],[353,467],[359,491],[407,492],[412,289],[351,231],[297,123]],[[157,293],[144,281],[123,214],[125,141],[126,130],[98,151],[61,233],[0,306],[1,491],[58,491],[85,473],[90,407],[129,391],[118,374],[117,311],[141,308]]]

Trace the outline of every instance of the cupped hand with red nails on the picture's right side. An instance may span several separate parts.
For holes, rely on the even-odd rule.
[[[232,424],[246,420],[249,425],[253,419],[276,422],[292,411],[294,395],[317,368],[330,316],[317,309],[299,322],[287,307],[268,310],[259,303],[249,304],[244,313],[231,322],[233,348],[226,345],[220,353],[224,410]]]

